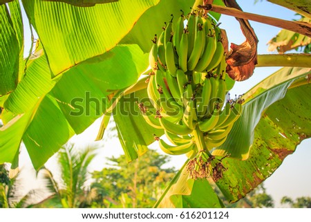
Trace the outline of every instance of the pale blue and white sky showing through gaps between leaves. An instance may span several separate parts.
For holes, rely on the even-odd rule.
[[[271,17],[278,17],[280,19],[298,19],[292,12],[281,6],[276,6],[267,1],[258,1],[254,4],[254,1],[238,1],[239,5],[245,12],[252,12],[259,15],[267,15]],[[23,15],[25,17],[25,15]],[[26,19],[26,17],[25,17]],[[24,19],[24,21],[26,21]],[[223,28],[227,31],[227,36],[229,38],[229,43],[234,42],[235,44],[241,44],[245,41],[245,37],[241,33],[238,21],[233,17],[223,15],[220,19],[220,28]],[[258,42],[258,54],[267,54],[267,42],[276,35],[280,28],[273,26],[268,26],[265,24],[260,24],[257,22],[250,21],[250,24],[254,28],[254,31],[259,39]],[[30,32],[25,28],[25,55],[28,54],[30,48]],[[275,53],[275,52],[274,52]],[[257,84],[259,81],[263,80],[268,75],[274,73],[280,67],[274,68],[256,68],[253,76],[247,80],[247,82],[236,82],[234,89],[230,92],[232,95],[240,95],[248,91],[252,86]],[[109,129],[113,127],[113,122],[109,124]],[[87,145],[95,145],[100,147],[98,149],[98,155],[95,158],[94,162],[91,164],[91,169],[100,170],[105,167],[106,157],[110,156],[119,156],[123,154],[122,147],[119,140],[116,137],[113,137],[113,132],[107,129],[106,138],[102,141],[94,142],[95,137],[97,136],[97,131],[100,128],[100,119],[96,120],[94,124],[91,125],[84,133],[81,133],[78,136],[74,136],[70,139],[70,142],[75,142],[77,147],[85,147]],[[267,188],[267,193],[272,195],[274,198],[276,207],[282,207],[280,205],[280,200],[282,196],[290,196],[296,198],[299,196],[311,196],[311,178],[306,175],[306,172],[309,172],[311,169],[311,140],[304,140],[301,145],[299,145],[294,152],[294,154],[288,156],[283,161],[283,164],[279,169],[276,169],[276,172],[267,178],[265,181],[265,187]],[[150,149],[156,149],[161,154],[164,154],[156,143],[153,143],[149,147]],[[21,152],[21,166],[24,168],[30,168],[31,163],[27,157],[25,149],[22,149]],[[185,156],[173,156],[171,157],[171,162],[168,163],[168,166],[173,166],[178,169],[185,162]],[[46,167],[55,168],[55,157],[50,158]],[[57,174],[57,172],[55,172]],[[28,181],[28,183],[30,183]],[[29,184],[31,186],[31,184]]]

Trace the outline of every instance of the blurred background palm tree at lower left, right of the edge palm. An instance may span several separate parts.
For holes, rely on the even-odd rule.
[[[95,189],[88,189],[88,165],[95,157],[95,149],[87,147],[77,151],[74,145],[66,145],[59,151],[58,164],[61,179],[57,181],[46,167],[41,168],[46,187],[51,195],[35,207],[87,207],[95,196]]]

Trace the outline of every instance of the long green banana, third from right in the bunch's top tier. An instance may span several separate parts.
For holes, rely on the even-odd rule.
[[[198,63],[198,60],[200,59],[200,55],[202,53],[202,50],[204,48],[205,44],[205,35],[204,31],[202,30],[202,27],[199,27],[198,32],[196,33],[196,37],[194,39],[194,48],[191,52],[191,55],[188,59],[188,70],[193,71],[194,68],[196,68],[196,64]]]

